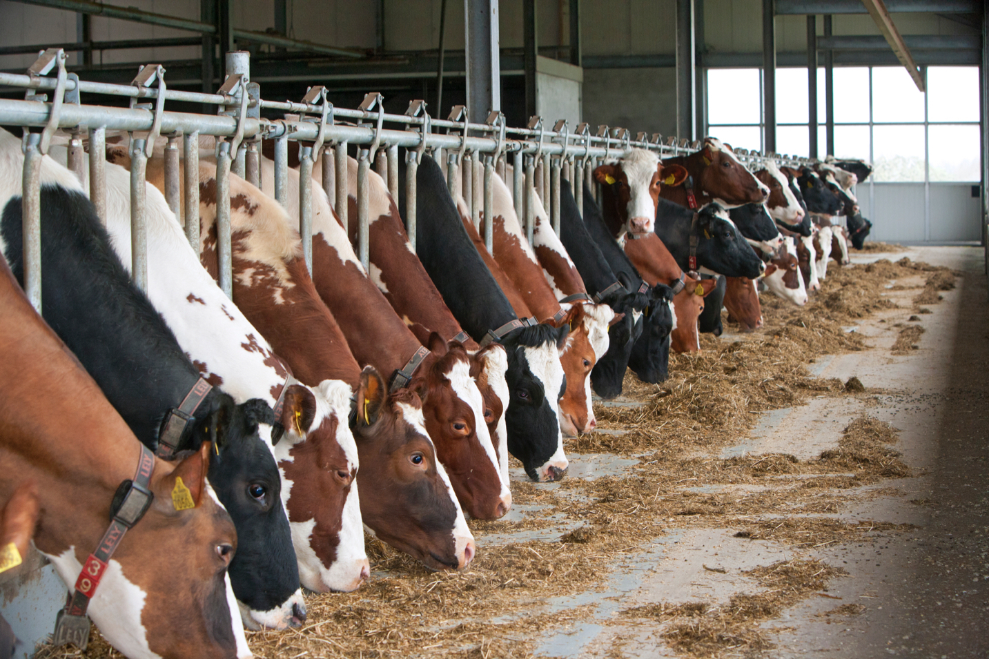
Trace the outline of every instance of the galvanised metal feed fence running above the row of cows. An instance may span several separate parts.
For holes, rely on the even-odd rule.
[[[375,166],[395,199],[399,196],[399,148],[405,148],[405,195],[415,199],[415,178],[422,154],[431,152],[437,162],[446,162],[447,181],[455,194],[456,181],[462,182],[462,195],[479,233],[481,214],[492,217],[492,178],[505,176],[510,155],[513,167],[511,188],[515,212],[523,219],[531,243],[535,220],[535,190],[541,200],[549,196],[553,230],[560,232],[560,186],[566,179],[583,212],[583,188],[588,186],[597,198],[598,186],[592,171],[597,164],[620,156],[632,147],[646,148],[660,157],[674,157],[701,147],[701,142],[677,138],[663,139],[639,133],[635,139],[623,128],[599,126],[591,132],[581,124],[571,132],[566,121],[551,129],[540,117],[532,117],[525,128],[505,126],[504,116],[492,112],[484,123],[472,123],[464,106],[455,106],[446,120],[433,119],[424,101],[412,101],[403,115],[389,114],[384,98],[367,94],[357,110],[335,108],[327,101],[326,89],[314,86],[301,102],[267,101],[260,88],[250,82],[249,53],[227,52],[226,77],[216,94],[168,89],[165,69],[160,64],[140,67],[130,85],[79,80],[65,68],[61,48],[48,48],[26,74],[0,73],[0,85],[26,88],[24,100],[0,99],[0,124],[43,128],[41,133],[25,132],[23,174],[25,292],[41,310],[41,163],[56,130],[69,134],[68,168],[83,178],[85,158],[83,136],[89,140],[89,195],[97,213],[106,219],[106,131],[127,131],[132,140],[131,240],[133,278],[142,290],[147,280],[147,236],[145,230],[144,171],[154,142],[167,139],[164,150],[165,199],[179,215],[183,191],[179,167],[185,167],[185,232],[193,248],[199,250],[199,137],[217,139],[217,250],[220,285],[231,294],[231,246],[229,174],[233,172],[260,187],[262,140],[275,141],[275,198],[286,206],[288,195],[289,141],[298,142],[300,159],[300,222],[306,264],[312,268],[313,254],[313,167],[322,162],[322,188],[344,226],[347,224],[347,152],[351,144],[357,155],[357,252],[365,269],[369,260],[368,172]],[[54,70],[55,76],[46,75]],[[51,92],[51,101],[47,94]],[[129,108],[83,105],[81,94],[122,96],[131,99]],[[165,101],[186,101],[216,105],[216,115],[166,112]],[[282,119],[261,117],[261,110],[281,111]],[[388,124],[390,127],[385,128]],[[442,132],[441,132],[442,131]],[[137,137],[135,133],[144,134]],[[182,141],[183,158],[178,142]],[[445,153],[445,157],[444,157]],[[759,153],[738,149],[739,159],[750,169],[772,159],[793,166],[813,162],[806,158]],[[337,175],[341,172],[342,175]],[[483,177],[481,199],[474,195],[474,181]],[[507,182],[507,180],[505,181]],[[415,204],[406,204],[405,227],[415,244]],[[485,242],[492,248],[491,222],[484,223]]]

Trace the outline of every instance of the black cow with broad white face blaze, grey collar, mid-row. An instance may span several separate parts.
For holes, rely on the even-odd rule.
[[[567,340],[566,326],[532,327],[519,321],[464,229],[443,173],[431,157],[422,158],[416,198],[405,203],[415,203],[415,251],[454,318],[474,340],[496,340],[505,347],[508,452],[521,460],[532,480],[563,478],[569,463],[558,413],[566,389],[559,351]],[[402,205],[400,201],[400,210]]]

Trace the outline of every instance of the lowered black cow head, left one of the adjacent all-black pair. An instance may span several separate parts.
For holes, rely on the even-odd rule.
[[[621,290],[608,295],[602,302],[611,307],[615,317],[608,328],[608,351],[590,372],[590,386],[601,398],[612,399],[621,394],[622,379],[632,349],[642,335],[643,314],[649,308],[650,298],[645,293]]]

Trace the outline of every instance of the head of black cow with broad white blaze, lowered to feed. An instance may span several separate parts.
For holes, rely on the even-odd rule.
[[[559,419],[567,389],[560,354],[569,331],[537,325],[513,329],[500,339],[508,355],[508,452],[534,481],[558,481],[570,466]]]

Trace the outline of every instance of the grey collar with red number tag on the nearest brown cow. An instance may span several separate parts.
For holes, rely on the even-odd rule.
[[[110,557],[120,546],[124,535],[140,518],[144,517],[144,513],[154,500],[150,490],[153,472],[154,453],[141,444],[134,480],[124,481],[117,488],[114,503],[111,505],[113,518],[110,520],[110,527],[100,538],[96,550],[82,564],[82,571],[75,580],[75,591],[69,597],[65,608],[55,617],[55,631],[51,641],[54,645],[74,643],[80,650],[86,649],[89,641],[89,617],[86,615],[89,601],[93,599],[100,580],[106,574]],[[120,501],[119,505],[118,501]]]

